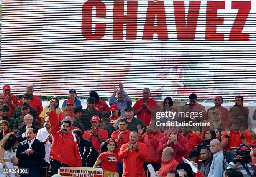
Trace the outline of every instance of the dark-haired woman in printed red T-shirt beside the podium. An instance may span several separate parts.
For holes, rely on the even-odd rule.
[[[101,167],[105,171],[117,172],[118,156],[113,153],[117,144],[114,139],[107,139],[100,146],[100,155],[93,168]],[[99,166],[100,165],[100,166]]]

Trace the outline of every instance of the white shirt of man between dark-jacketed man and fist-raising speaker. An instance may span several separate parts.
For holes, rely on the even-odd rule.
[[[40,141],[44,141],[46,137],[49,135],[46,127],[39,129],[36,135],[36,139]],[[44,160],[48,163],[50,163],[50,150],[51,150],[51,143],[49,141],[44,144],[44,149],[45,149],[45,157]]]

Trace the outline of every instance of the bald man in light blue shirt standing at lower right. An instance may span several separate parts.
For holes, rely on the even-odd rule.
[[[218,139],[213,139],[210,142],[210,150],[213,154],[212,164],[208,173],[208,177],[222,177],[223,175],[223,165],[224,168],[227,167],[227,163],[223,162],[224,156],[220,149],[220,141]]]

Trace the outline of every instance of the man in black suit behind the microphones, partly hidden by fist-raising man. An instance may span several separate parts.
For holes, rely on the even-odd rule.
[[[72,133],[78,137],[82,151],[84,151],[84,148],[87,147],[86,154],[84,154],[84,159],[85,159],[85,163],[86,163],[86,158],[87,158],[87,155],[90,152],[90,147],[93,147],[92,142],[88,139],[82,138],[82,132],[79,129],[74,129],[72,131]],[[81,154],[83,154],[83,152],[81,152]],[[93,148],[91,154],[88,157],[87,167],[93,167],[93,165],[95,164],[98,156],[99,156],[99,154]]]

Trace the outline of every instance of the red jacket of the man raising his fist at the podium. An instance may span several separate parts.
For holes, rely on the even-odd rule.
[[[53,136],[50,159],[55,159],[71,167],[82,167],[82,157],[74,134],[71,131],[68,134],[62,134],[56,111],[50,111],[49,121]]]

